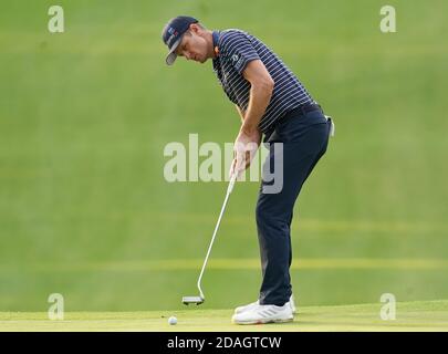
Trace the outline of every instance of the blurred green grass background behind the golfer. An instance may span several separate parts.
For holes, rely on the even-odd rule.
[[[65,32],[48,31],[61,4]],[[0,311],[179,309],[226,183],[164,179],[169,142],[232,142],[239,117],[211,62],[165,65],[177,14],[259,37],[336,122],[295,208],[299,303],[448,298],[448,3],[0,3]],[[258,183],[238,184],[204,279],[205,308],[254,301]]]

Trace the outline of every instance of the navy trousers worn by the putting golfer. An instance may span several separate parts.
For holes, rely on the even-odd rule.
[[[260,304],[283,305],[291,296],[290,266],[291,220],[293,207],[303,183],[325,154],[330,137],[331,121],[321,111],[305,114],[289,114],[264,135],[269,148],[263,166],[263,180],[257,202],[257,229],[260,246],[262,284]],[[269,143],[269,144],[267,144]],[[273,143],[283,143],[282,164],[275,159],[279,148]],[[281,153],[281,152],[280,152]],[[277,164],[275,164],[277,162]],[[279,192],[265,192],[267,171],[277,175],[282,168],[282,188]],[[275,181],[273,181],[275,184]]]

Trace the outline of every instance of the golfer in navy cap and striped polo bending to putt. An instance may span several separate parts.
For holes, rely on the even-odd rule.
[[[303,183],[325,153],[332,122],[299,79],[263,42],[242,30],[207,30],[191,17],[177,17],[165,25],[166,63],[178,56],[199,63],[212,60],[212,70],[227,97],[236,104],[241,127],[235,142],[232,173],[250,165],[261,143],[269,148],[270,169],[282,178],[272,192],[265,166],[257,202],[262,284],[258,301],[235,310],[237,324],[293,321],[290,266],[291,220]],[[295,45],[291,43],[291,45]],[[282,143],[282,150],[277,144]],[[281,152],[282,163],[275,158]],[[274,165],[272,167],[272,165]],[[281,170],[279,170],[281,169]],[[269,170],[272,173],[271,170]],[[279,175],[280,173],[280,175]]]

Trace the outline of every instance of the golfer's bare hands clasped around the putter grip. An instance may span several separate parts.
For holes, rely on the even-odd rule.
[[[233,145],[233,162],[229,175],[238,173],[238,176],[246,170],[257,154],[261,143],[261,133],[259,129],[240,129]],[[238,177],[237,176],[237,177]]]

